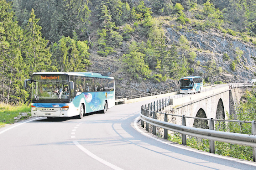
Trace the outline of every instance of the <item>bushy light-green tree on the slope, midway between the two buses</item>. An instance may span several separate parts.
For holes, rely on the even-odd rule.
[[[139,48],[136,42],[132,42],[129,47],[129,53],[124,54],[122,61],[127,71],[138,79],[140,76],[149,77],[150,70],[148,65],[144,61],[145,54],[139,52]]]

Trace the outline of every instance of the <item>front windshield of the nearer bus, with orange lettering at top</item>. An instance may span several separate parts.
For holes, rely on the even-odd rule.
[[[32,103],[69,103],[68,75],[33,75]]]

